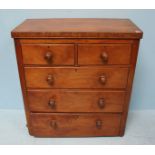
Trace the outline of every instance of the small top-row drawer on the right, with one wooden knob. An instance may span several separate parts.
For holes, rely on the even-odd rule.
[[[79,44],[79,65],[130,64],[130,44]]]

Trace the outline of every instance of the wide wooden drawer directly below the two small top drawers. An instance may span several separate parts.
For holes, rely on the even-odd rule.
[[[126,88],[126,67],[26,67],[28,88]]]

